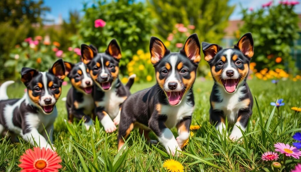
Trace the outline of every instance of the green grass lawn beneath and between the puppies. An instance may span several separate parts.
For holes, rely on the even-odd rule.
[[[219,133],[209,123],[209,95],[213,81],[197,79],[194,84],[195,111],[192,124],[200,124],[183,154],[174,159],[180,161],[186,171],[263,171],[268,164],[260,160],[263,152],[274,151],[276,142],[292,144],[292,136],[301,130],[300,113],[292,111],[292,106],[301,106],[300,82],[281,81],[276,86],[270,81],[249,80],[248,84],[254,101],[253,115],[250,118],[244,141],[234,143],[228,139],[218,139]],[[132,93],[150,87],[144,83],[133,85]],[[70,86],[63,86],[65,97]],[[8,89],[10,98],[23,95],[24,86],[14,84]],[[285,106],[276,108],[270,105],[283,98]],[[138,130],[131,133],[126,151],[117,154],[117,132],[106,134],[98,122],[95,131],[86,131],[81,123],[66,124],[65,102],[57,102],[58,117],[54,124],[54,145],[61,156],[61,171],[164,171],[163,162],[173,158],[166,154],[160,143],[145,144]],[[260,111],[259,111],[260,110]],[[229,126],[230,127],[230,126]],[[172,132],[177,135],[175,128]],[[151,137],[155,139],[153,133]],[[0,171],[18,171],[19,157],[29,143],[12,144],[8,139],[0,141]],[[282,158],[282,155],[281,155]],[[300,160],[292,159],[285,171],[290,171]]]

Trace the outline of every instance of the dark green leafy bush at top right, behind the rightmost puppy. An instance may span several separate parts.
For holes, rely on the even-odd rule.
[[[298,15],[294,5],[274,5],[257,11],[242,11],[244,25],[240,33],[252,32],[256,69],[296,69],[290,56],[293,41],[298,39]],[[280,58],[278,58],[280,57]],[[282,59],[282,60],[281,60]]]

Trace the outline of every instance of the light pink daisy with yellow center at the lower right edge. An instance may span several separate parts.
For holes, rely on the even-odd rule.
[[[276,143],[275,151],[278,151],[286,156],[292,156],[293,158],[299,159],[301,156],[301,152],[294,146],[290,146],[289,144],[284,143]]]

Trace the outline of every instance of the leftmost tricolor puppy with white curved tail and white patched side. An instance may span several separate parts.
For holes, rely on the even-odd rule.
[[[57,117],[55,103],[61,95],[64,77],[65,66],[60,59],[48,72],[22,68],[21,81],[25,84],[27,92],[21,99],[8,99],[6,87],[14,82],[3,83],[0,87],[0,133],[8,130],[22,136],[33,146],[36,142],[40,147],[50,144],[48,134],[52,143],[53,123]]]

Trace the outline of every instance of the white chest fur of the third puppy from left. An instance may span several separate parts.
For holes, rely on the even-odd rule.
[[[116,93],[116,89],[110,89],[104,92],[104,98],[102,101],[97,102],[97,107],[104,107],[104,111],[109,114],[111,119],[114,119],[119,112],[119,105],[124,102],[126,97],[119,97]]]

